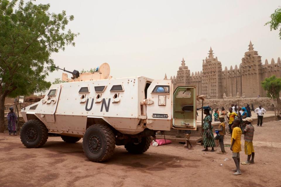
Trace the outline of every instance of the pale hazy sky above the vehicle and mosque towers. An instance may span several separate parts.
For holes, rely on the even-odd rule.
[[[212,46],[225,66],[241,63],[250,40],[262,56],[281,57],[277,31],[264,26],[281,1],[51,1],[50,12],[74,15],[76,46],[54,53],[56,65],[89,70],[107,62],[114,78],[176,75],[184,57],[191,72],[202,70]],[[61,77],[53,72],[47,80]],[[68,75],[70,77],[70,75]]]

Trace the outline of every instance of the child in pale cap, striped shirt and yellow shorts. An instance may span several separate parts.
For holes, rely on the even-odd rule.
[[[249,165],[250,163],[255,163],[254,162],[254,157],[255,157],[255,151],[253,147],[253,137],[254,137],[254,126],[251,124],[253,119],[251,117],[246,117],[243,119],[243,121],[246,124],[246,127],[244,129],[244,140],[245,140],[245,154],[248,155],[247,161],[242,162],[241,164],[243,165]],[[252,160],[250,161],[250,158],[252,156]]]

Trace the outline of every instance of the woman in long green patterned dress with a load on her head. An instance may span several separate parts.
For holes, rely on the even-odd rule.
[[[208,147],[212,147],[212,152],[215,151],[214,147],[215,145],[215,140],[214,140],[214,134],[212,131],[212,124],[211,124],[211,117],[210,117],[210,110],[209,109],[204,109],[204,114],[206,115],[204,118],[204,123],[203,123],[203,145],[205,149],[203,151],[209,151]]]

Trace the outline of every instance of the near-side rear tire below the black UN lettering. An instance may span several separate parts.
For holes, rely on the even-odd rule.
[[[113,155],[115,141],[115,135],[109,126],[95,124],[86,130],[82,145],[90,161],[103,162]]]

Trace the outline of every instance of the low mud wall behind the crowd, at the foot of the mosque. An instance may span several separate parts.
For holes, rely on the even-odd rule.
[[[246,106],[249,103],[250,107],[253,104],[254,109],[258,108],[259,105],[265,110],[274,110],[272,105],[272,99],[261,97],[261,98],[231,98],[231,99],[206,99],[204,101],[204,105],[212,106],[212,108],[221,108],[222,106],[227,110],[231,106],[231,104],[239,104],[239,106]],[[274,103],[276,105],[276,102]],[[197,102],[197,107],[201,107],[201,102]]]

